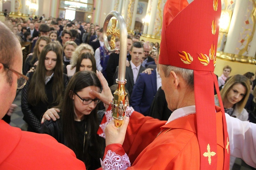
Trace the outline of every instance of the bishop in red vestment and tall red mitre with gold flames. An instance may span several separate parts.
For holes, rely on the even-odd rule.
[[[130,108],[119,129],[111,121],[103,169],[229,169],[224,108],[214,105],[220,15],[221,0],[167,0],[159,74],[173,113],[165,122]]]

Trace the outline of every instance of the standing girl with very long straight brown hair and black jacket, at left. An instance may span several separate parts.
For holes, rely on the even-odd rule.
[[[40,53],[35,72],[27,74],[29,81],[22,91],[23,119],[28,131],[39,133],[41,116],[48,109],[57,106],[68,83],[62,73],[62,49],[57,44],[47,44]]]

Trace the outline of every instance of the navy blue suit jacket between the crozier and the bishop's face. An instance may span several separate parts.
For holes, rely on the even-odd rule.
[[[150,106],[157,92],[156,69],[152,74],[141,73],[133,87],[130,106],[135,111],[149,115]]]

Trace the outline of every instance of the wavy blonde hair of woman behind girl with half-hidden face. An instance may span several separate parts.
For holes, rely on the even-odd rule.
[[[84,44],[84,43],[82,43],[78,47],[76,47],[75,51],[72,54],[70,64],[67,65],[67,75],[68,75],[68,77],[73,76],[74,73],[75,73],[77,58],[82,53],[86,53],[86,52],[89,52],[92,55],[94,55],[93,47],[91,47],[89,44]]]

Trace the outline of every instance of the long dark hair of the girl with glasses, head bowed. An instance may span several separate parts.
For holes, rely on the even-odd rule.
[[[65,90],[65,95],[63,103],[61,104],[61,119],[63,134],[67,142],[67,146],[72,149],[76,157],[83,157],[86,165],[86,169],[89,169],[90,165],[90,156],[89,156],[89,146],[90,143],[93,143],[96,146],[94,151],[100,157],[103,156],[103,138],[97,135],[97,130],[99,128],[98,115],[97,115],[97,106],[90,114],[85,115],[85,125],[87,135],[84,140],[84,151],[79,150],[78,134],[75,130],[75,112],[74,112],[74,103],[72,96],[74,92],[79,92],[82,89],[95,86],[101,88],[101,83],[96,73],[91,71],[80,71],[75,73],[70,79],[68,86]],[[96,155],[97,155],[96,154]]]

